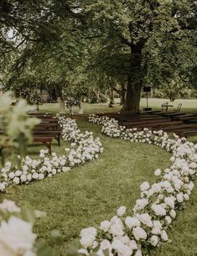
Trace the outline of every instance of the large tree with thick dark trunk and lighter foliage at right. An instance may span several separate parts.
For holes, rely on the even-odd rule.
[[[171,81],[174,73],[188,82],[196,77],[196,2],[189,0],[86,1],[92,38],[100,41],[97,65],[114,62],[127,72],[123,112],[137,112],[144,84]],[[125,62],[121,56],[127,55]],[[116,58],[117,56],[117,58]],[[117,61],[116,61],[117,60]],[[124,65],[123,65],[124,64]],[[117,71],[118,72],[118,71]]]

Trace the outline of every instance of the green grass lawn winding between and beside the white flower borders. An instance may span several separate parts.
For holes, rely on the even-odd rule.
[[[53,104],[50,107],[55,111],[57,106]],[[91,112],[90,106],[85,104],[85,107],[87,112]],[[94,106],[92,112],[95,109]],[[50,112],[48,105],[44,105],[42,110]],[[82,130],[91,130],[101,138],[104,152],[99,159],[76,167],[69,173],[61,173],[29,185],[11,187],[7,194],[1,194],[1,199],[6,197],[17,201],[19,205],[29,201],[34,209],[47,212],[47,217],[36,222],[34,231],[39,238],[49,241],[49,232],[54,228],[60,229],[65,242],[56,256],[64,255],[69,243],[78,243],[81,228],[99,225],[101,221],[113,216],[119,206],[132,209],[140,196],[139,185],[144,180],[153,183],[153,171],[170,165],[170,154],[163,149],[108,138],[101,134],[101,126],[86,121],[81,120],[78,125]],[[64,154],[65,145],[63,142],[59,148],[54,142],[53,149],[57,154]],[[41,148],[29,147],[28,154],[34,157]],[[165,243],[162,248],[153,251],[151,256],[197,255],[196,186],[186,210],[179,213],[169,231],[169,238],[172,243]]]

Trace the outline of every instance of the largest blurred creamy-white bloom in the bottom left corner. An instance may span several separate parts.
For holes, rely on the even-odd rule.
[[[32,224],[11,216],[8,222],[2,221],[0,227],[0,246],[8,255],[23,255],[34,246],[36,235]],[[2,255],[2,254],[1,254]]]

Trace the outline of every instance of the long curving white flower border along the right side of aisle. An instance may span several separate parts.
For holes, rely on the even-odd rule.
[[[100,227],[81,230],[80,253],[98,256],[141,256],[149,248],[168,241],[168,227],[174,221],[177,212],[189,200],[194,188],[197,168],[197,144],[189,143],[185,138],[169,138],[163,131],[143,131],[127,129],[109,118],[92,116],[92,123],[102,123],[102,132],[108,136],[135,142],[155,144],[167,149],[173,156],[172,165],[166,170],[155,170],[158,181],[150,185],[147,181],[140,185],[141,197],[137,199],[132,212],[127,213],[121,206],[111,220],[101,222]]]

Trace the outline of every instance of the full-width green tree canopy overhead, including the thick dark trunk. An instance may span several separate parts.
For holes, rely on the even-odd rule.
[[[29,86],[61,91],[113,77],[127,82],[122,110],[136,112],[145,84],[196,86],[195,1],[3,0],[0,14],[8,87],[31,77]]]

